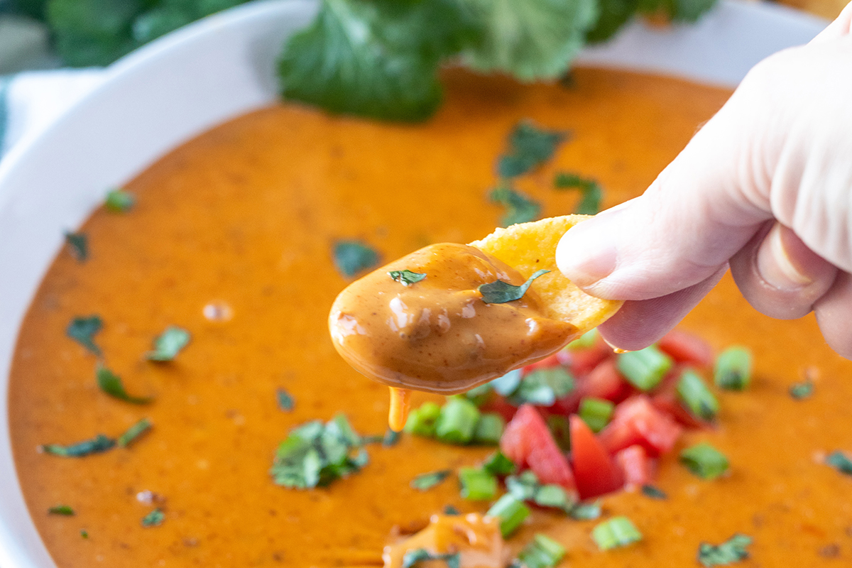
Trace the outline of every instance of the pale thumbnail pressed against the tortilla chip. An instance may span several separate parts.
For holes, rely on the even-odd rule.
[[[615,246],[607,231],[610,217],[583,221],[572,227],[556,247],[556,266],[574,284],[587,288],[615,270]]]

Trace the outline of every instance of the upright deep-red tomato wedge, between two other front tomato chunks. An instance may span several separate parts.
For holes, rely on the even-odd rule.
[[[568,420],[574,481],[580,498],[589,499],[621,489],[625,485],[624,478],[595,433],[576,414]]]

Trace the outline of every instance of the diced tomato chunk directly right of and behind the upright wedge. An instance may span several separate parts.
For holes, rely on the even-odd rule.
[[[615,407],[613,420],[598,435],[602,445],[614,454],[639,444],[648,455],[657,457],[671,450],[682,433],[671,416],[651,404],[644,394],[638,394]]]

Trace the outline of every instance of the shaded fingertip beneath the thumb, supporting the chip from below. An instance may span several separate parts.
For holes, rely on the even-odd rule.
[[[699,284],[669,295],[651,300],[627,301],[597,329],[613,347],[628,351],[648,347],[671,331],[712,290],[727,269],[725,265]]]

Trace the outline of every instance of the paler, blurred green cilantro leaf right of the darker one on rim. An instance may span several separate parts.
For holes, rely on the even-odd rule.
[[[527,82],[566,72],[597,17],[597,3],[584,0],[471,3],[485,33],[464,51],[463,62],[478,72],[504,72]]]

